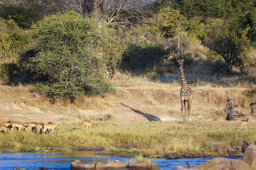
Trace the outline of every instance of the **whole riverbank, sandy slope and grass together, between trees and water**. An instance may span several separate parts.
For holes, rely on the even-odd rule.
[[[178,75],[177,75],[178,76]],[[164,157],[167,151],[200,157],[228,154],[228,148],[241,152],[244,139],[256,141],[253,117],[256,104],[246,96],[246,86],[191,86],[192,122],[180,120],[180,84],[151,82],[134,78],[119,82],[117,91],[105,96],[86,96],[76,103],[51,104],[32,92],[31,86],[0,86],[2,121],[51,121],[59,128],[55,135],[16,131],[0,133],[1,152],[104,150],[106,154]],[[238,103],[235,111],[245,117],[225,121],[226,99]],[[240,121],[249,117],[247,129]],[[82,120],[98,122],[96,130],[82,130]]]

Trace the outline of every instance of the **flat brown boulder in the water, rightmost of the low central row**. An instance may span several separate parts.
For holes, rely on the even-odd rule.
[[[152,162],[133,162],[127,165],[127,169],[134,170],[157,170],[160,169],[158,165]]]

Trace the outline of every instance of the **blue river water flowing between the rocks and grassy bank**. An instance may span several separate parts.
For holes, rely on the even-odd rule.
[[[187,159],[150,159],[151,162],[158,165],[162,170],[168,170],[176,165],[188,168],[185,162],[191,167],[207,162],[212,158],[187,158]],[[232,158],[241,159],[241,158]],[[116,155],[101,155],[99,151],[72,151],[72,152],[52,152],[52,153],[11,153],[0,154],[0,169],[9,170],[14,168],[24,168],[26,170],[35,170],[40,167],[52,169],[69,170],[71,162],[81,160],[84,163],[102,162],[110,160],[119,160],[124,163],[134,162],[134,158],[118,157]]]

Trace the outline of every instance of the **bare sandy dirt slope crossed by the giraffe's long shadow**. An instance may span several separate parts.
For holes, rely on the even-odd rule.
[[[225,117],[217,115],[225,108],[221,105],[205,103],[200,96],[200,88],[193,90],[191,118],[194,120],[225,121]],[[83,119],[97,120],[106,115],[115,121],[148,122],[148,121],[179,121],[180,120],[180,87],[117,87],[112,94],[88,97],[79,104],[49,104],[30,86],[0,85],[0,121],[19,122],[56,122],[57,120]],[[238,108],[241,110],[241,108]],[[247,107],[242,112],[250,115]],[[239,126],[239,125],[238,125]]]

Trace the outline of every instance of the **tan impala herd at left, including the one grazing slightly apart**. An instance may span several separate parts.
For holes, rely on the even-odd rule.
[[[52,130],[52,134],[54,134],[54,130],[58,130],[56,126],[60,124],[59,121],[56,122],[56,124],[53,124],[52,122],[48,122],[48,124],[42,124],[42,123],[36,123],[36,122],[26,122],[24,124],[20,122],[15,122],[13,120],[2,122],[0,124],[0,131],[5,131],[5,134],[7,132],[10,132],[16,128],[17,130],[21,131],[22,129],[26,131],[31,131],[32,129],[36,130],[36,133],[40,134],[40,131],[42,131],[42,134],[45,134],[46,131],[49,134],[49,132]],[[87,126],[86,129],[88,129],[88,126],[91,126],[93,129],[98,124],[92,124],[89,120],[83,120],[82,121],[82,130],[84,130],[84,126]]]

